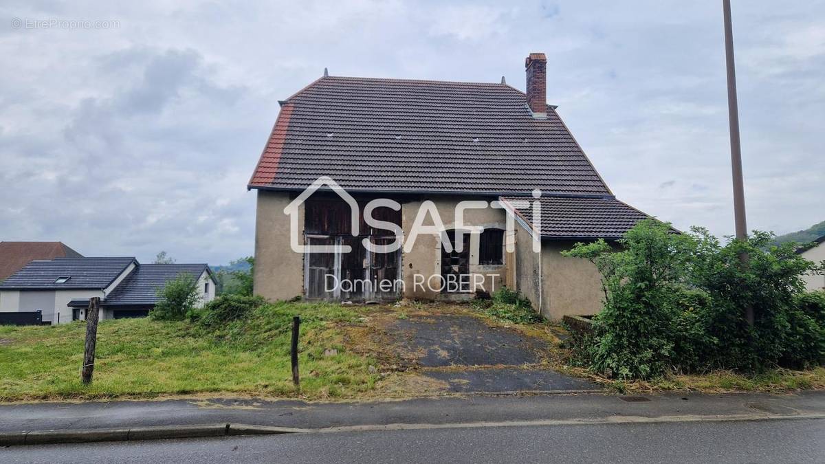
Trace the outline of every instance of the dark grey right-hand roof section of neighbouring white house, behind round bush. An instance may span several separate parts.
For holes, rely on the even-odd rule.
[[[183,272],[195,278],[203,272],[212,274],[206,264],[141,264],[106,296],[102,305],[154,305],[158,289]]]

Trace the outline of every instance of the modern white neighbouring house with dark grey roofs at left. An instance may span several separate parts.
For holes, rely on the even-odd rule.
[[[148,315],[157,291],[181,272],[198,279],[201,304],[214,298],[206,264],[140,264],[135,258],[36,260],[0,282],[0,312],[42,311],[43,322],[86,319],[89,299],[101,299],[101,319]]]

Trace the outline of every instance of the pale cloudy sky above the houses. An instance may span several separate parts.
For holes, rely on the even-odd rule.
[[[252,254],[246,183],[278,99],[324,67],[523,89],[531,51],[616,196],[733,233],[721,1],[261,3],[2,2],[0,240],[227,263]],[[825,2],[733,15],[748,226],[807,228],[825,220]]]

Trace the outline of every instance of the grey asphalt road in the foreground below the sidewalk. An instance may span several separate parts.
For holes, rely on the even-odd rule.
[[[825,419],[417,428],[7,447],[0,462],[825,462]]]

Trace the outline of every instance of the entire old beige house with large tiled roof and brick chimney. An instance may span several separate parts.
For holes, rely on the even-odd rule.
[[[255,292],[272,300],[460,300],[506,285],[552,319],[601,310],[596,269],[559,252],[577,241],[620,238],[648,215],[615,199],[547,104],[545,72],[544,54],[530,54],[526,92],[503,78],[460,83],[325,73],[281,102],[247,185],[257,190]],[[331,189],[332,181],[346,192]],[[308,187],[318,191],[309,195]],[[534,192],[543,206],[540,225],[531,222]],[[365,250],[362,239],[394,242],[394,232],[365,223],[364,206],[375,198],[400,204],[372,215],[398,226],[404,239],[422,205],[436,209],[443,224],[425,222],[441,232],[419,235],[408,250]],[[501,203],[467,209],[458,222],[455,206],[464,200]],[[516,207],[520,201],[530,206]],[[513,217],[516,231],[507,236]],[[462,234],[460,252],[448,252],[442,244],[455,243],[456,230],[472,233]],[[534,235],[540,253],[532,251]],[[512,253],[508,241],[515,242]],[[296,253],[295,244],[336,248]],[[351,253],[338,251],[347,245]],[[464,276],[452,289],[418,285]],[[401,285],[334,285],[357,278]]]

